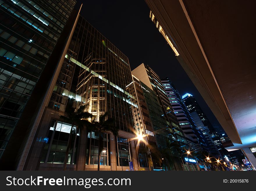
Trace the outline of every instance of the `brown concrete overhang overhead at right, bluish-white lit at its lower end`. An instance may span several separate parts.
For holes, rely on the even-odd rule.
[[[256,145],[255,1],[145,0],[234,144]]]

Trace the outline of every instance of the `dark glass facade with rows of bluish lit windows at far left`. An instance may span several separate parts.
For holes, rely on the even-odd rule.
[[[76,1],[0,1],[0,158]]]

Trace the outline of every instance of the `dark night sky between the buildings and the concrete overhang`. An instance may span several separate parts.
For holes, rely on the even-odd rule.
[[[217,119],[151,21],[143,0],[82,1],[80,14],[128,58],[131,70],[149,65],[160,78],[169,77],[181,95],[192,94],[212,124]]]

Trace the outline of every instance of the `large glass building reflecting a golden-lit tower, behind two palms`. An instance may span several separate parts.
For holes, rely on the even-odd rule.
[[[100,154],[100,169],[127,170],[132,161],[134,170],[149,170],[143,152],[145,145],[132,140],[136,133],[142,134],[144,130],[136,128],[140,123],[136,122],[133,110],[137,111],[139,106],[136,94],[127,88],[132,82],[128,58],[81,16],[64,57],[36,135],[42,137],[42,141],[34,138],[26,168],[63,169],[63,151],[67,148],[65,138],[69,132],[62,131],[62,128],[58,131],[54,124],[70,126],[59,116],[65,115],[70,107],[84,104],[86,111],[93,114],[90,121],[99,121],[99,116],[107,112],[120,129],[118,137],[102,132],[104,149]],[[67,169],[96,170],[99,133],[86,134],[77,127],[74,127],[75,141],[72,142]],[[59,137],[55,138],[55,134]],[[44,138],[47,138],[47,143]]]

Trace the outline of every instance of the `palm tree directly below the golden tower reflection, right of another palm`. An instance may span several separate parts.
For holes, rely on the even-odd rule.
[[[92,130],[99,132],[99,147],[98,147],[98,170],[100,167],[99,160],[100,154],[103,151],[103,144],[102,144],[102,131],[111,131],[115,136],[118,136],[119,128],[115,126],[115,119],[107,118],[108,113],[104,113],[99,116],[99,121],[92,122]]]

